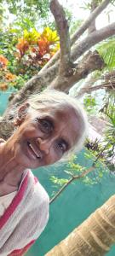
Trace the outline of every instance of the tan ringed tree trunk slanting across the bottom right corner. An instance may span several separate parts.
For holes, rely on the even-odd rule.
[[[115,195],[45,256],[102,256],[115,242]]]

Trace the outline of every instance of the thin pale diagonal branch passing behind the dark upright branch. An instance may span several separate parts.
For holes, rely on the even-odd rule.
[[[110,3],[110,0],[105,0],[103,3],[101,3],[90,15],[87,20],[83,22],[83,25],[78,28],[78,31],[75,32],[72,35],[71,38],[71,45],[74,44],[78,38],[80,38],[81,35],[83,35],[83,32],[85,32],[90,23],[95,20],[95,18],[101,14],[101,11],[106,8],[106,6]],[[60,57],[60,50],[51,58],[51,60],[42,68],[40,73],[43,73],[44,70],[54,65],[55,61],[57,61]]]

